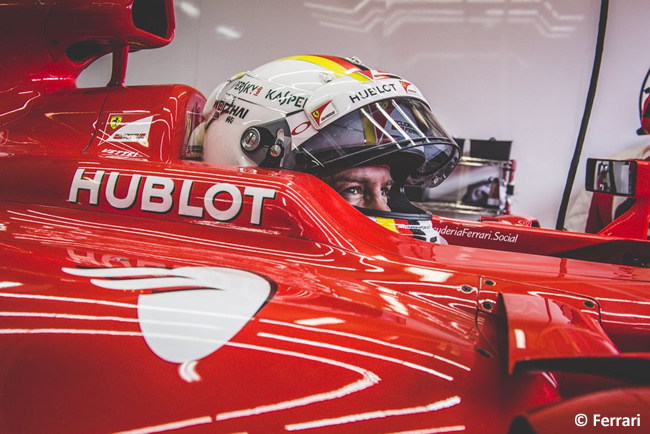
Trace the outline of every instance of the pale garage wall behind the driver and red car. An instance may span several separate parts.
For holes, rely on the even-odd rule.
[[[650,142],[636,134],[647,0],[176,0],[175,14],[174,41],[132,55],[127,85],[207,96],[276,58],[357,56],[414,82],[455,137],[512,140],[512,213],[542,227],[582,230],[565,211],[586,159]],[[110,65],[100,59],[79,86],[104,85]]]

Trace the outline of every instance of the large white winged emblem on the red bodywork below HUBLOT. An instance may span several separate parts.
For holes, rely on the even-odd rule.
[[[173,363],[199,360],[217,351],[252,319],[272,289],[256,274],[221,267],[63,271],[92,277],[91,283],[101,288],[154,291],[138,297],[140,329],[151,351]]]

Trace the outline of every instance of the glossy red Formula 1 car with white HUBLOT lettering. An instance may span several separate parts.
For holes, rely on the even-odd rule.
[[[313,176],[193,161],[204,97],[123,86],[171,1],[0,24],[1,432],[647,429],[650,270],[575,253],[629,240],[433,244]],[[109,85],[76,88],[109,52]]]

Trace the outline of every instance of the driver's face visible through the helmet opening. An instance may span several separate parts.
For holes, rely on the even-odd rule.
[[[323,181],[354,206],[390,211],[388,192],[393,179],[388,166],[353,167],[325,176]]]

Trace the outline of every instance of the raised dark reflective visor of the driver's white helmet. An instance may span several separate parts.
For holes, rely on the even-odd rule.
[[[323,176],[370,164],[386,164],[396,182],[441,182],[458,161],[453,139],[422,101],[386,99],[327,125],[287,159],[293,170]],[[293,160],[293,161],[292,161]]]

